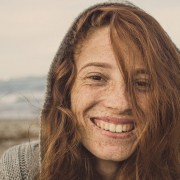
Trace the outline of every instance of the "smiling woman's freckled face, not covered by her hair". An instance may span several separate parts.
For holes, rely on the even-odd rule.
[[[135,56],[141,58],[138,53]],[[127,159],[136,147],[136,120],[111,47],[108,27],[89,36],[75,63],[77,77],[71,92],[71,106],[78,122],[83,124],[80,127],[82,144],[99,159]],[[135,64],[135,70],[142,68],[141,62]],[[142,86],[142,81],[147,80],[145,76],[137,73],[134,78]],[[145,104],[145,95],[137,96],[139,103]]]

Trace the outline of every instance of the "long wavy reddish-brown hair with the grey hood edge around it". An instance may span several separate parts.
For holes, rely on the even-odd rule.
[[[41,115],[42,180],[102,179],[94,166],[94,157],[81,144],[78,121],[71,111],[71,88],[76,78],[75,55],[81,51],[89,32],[109,26],[117,61],[123,59],[123,40],[136,46],[150,76],[147,92],[149,109],[138,104],[133,82],[131,58],[121,66],[132,109],[137,116],[138,146],[127,160],[119,163],[114,179],[179,179],[180,150],[180,55],[159,23],[130,3],[93,6],[83,12],[54,58],[49,72],[47,97]]]

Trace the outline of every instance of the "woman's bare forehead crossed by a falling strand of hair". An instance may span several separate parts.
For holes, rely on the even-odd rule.
[[[118,40],[122,59],[128,63],[135,62],[136,66],[143,66],[142,56],[135,45],[128,46],[122,40]],[[88,33],[86,39],[82,42],[80,53],[75,57],[77,69],[92,62],[111,64],[112,67],[118,67],[116,55],[114,53],[109,26],[96,28]]]

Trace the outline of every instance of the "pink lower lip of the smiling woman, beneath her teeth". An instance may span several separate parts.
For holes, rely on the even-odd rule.
[[[92,121],[91,121],[92,122]],[[92,122],[93,123],[93,122]],[[101,129],[99,128],[97,125],[95,125],[93,123],[93,126],[98,130],[100,131],[100,133],[102,135],[105,135],[107,137],[110,137],[110,138],[114,138],[114,139],[128,139],[128,138],[131,138],[135,135],[135,130],[133,129],[132,131],[129,131],[129,132],[123,132],[123,133],[113,133],[111,131],[106,131],[104,129]]]

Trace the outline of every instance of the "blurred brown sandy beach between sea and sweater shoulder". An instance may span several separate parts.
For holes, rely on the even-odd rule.
[[[38,120],[0,120],[0,156],[8,148],[38,139]]]

